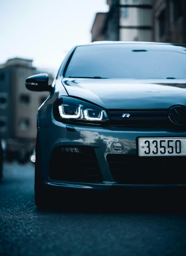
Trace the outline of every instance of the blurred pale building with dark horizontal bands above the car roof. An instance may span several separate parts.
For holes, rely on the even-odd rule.
[[[109,12],[104,14],[104,24],[95,17],[92,41],[152,41],[152,0],[107,0],[107,4]]]

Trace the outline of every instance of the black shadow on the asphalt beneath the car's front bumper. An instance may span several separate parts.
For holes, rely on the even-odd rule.
[[[183,189],[126,189],[106,194],[66,194],[39,212],[186,214]]]

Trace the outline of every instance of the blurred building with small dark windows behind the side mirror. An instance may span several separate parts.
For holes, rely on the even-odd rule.
[[[0,65],[0,137],[35,143],[36,114],[48,92],[32,92],[25,79],[38,73],[31,59],[13,58]],[[52,81],[49,81],[52,83]]]

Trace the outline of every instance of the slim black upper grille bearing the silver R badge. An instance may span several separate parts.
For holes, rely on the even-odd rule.
[[[169,123],[168,109],[108,109],[110,125],[166,126]],[[122,117],[123,114],[130,116]]]

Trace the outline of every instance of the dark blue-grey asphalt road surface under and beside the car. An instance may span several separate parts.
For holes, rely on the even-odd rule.
[[[149,202],[143,196],[127,202],[127,193],[118,196],[120,203],[112,198],[104,206],[96,202],[38,210],[33,187],[32,165],[5,164],[0,184],[2,256],[186,255],[184,199],[160,203],[160,197]]]

